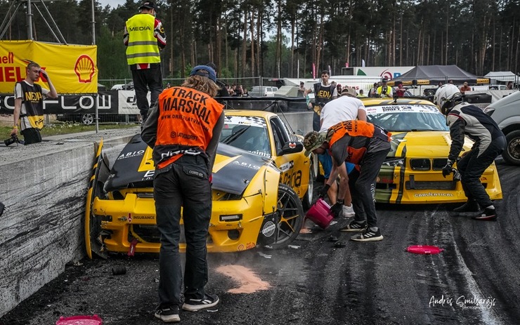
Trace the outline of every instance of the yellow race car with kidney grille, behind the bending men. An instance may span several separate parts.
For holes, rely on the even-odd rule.
[[[450,150],[450,131],[438,108],[428,100],[366,98],[367,121],[392,133],[391,151],[386,157],[375,188],[379,203],[431,204],[465,202],[460,182],[443,178]],[[464,151],[473,141],[466,138]],[[457,168],[457,164],[454,165]],[[481,182],[490,198],[502,199],[502,187],[495,164],[484,171]]]

